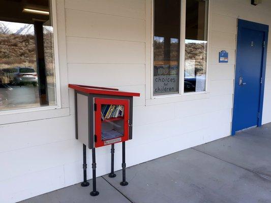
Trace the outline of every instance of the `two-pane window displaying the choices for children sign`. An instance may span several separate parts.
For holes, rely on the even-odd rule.
[[[205,91],[208,1],[184,1],[154,0],[154,96]]]

